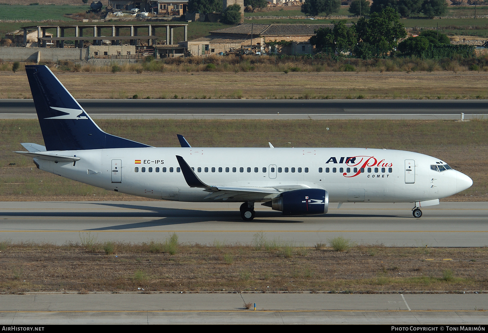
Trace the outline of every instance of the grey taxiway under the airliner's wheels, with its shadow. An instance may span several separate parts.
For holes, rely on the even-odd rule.
[[[176,232],[183,243],[251,244],[257,232],[297,246],[314,246],[344,236],[357,243],[386,246],[479,247],[488,245],[487,202],[444,202],[423,208],[415,219],[411,204],[345,203],[318,216],[284,216],[256,205],[244,222],[239,204],[136,202],[1,202],[0,240],[63,244],[88,234],[98,241],[147,242]]]

